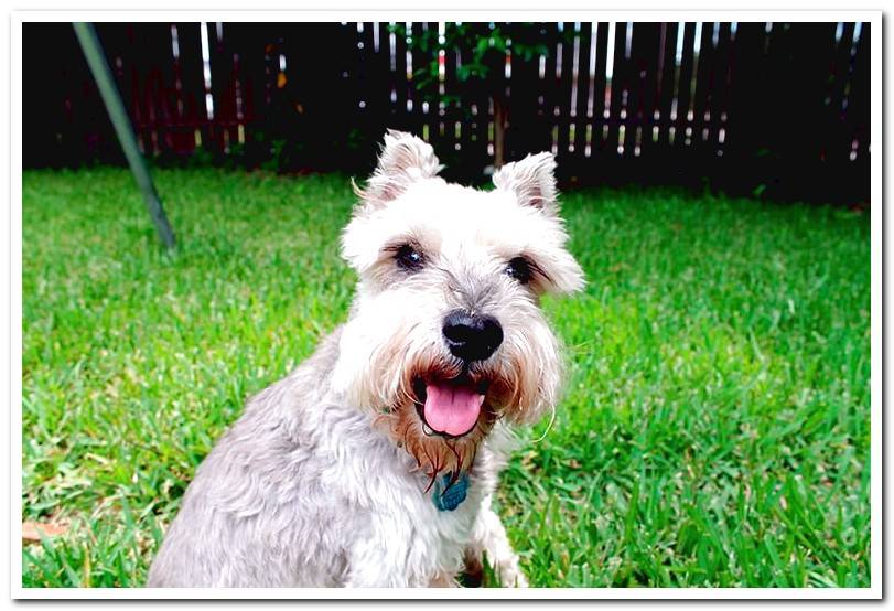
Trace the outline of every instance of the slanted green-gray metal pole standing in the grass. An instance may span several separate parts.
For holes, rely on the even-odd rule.
[[[149,169],[146,167],[146,161],[140,154],[140,149],[137,147],[137,138],[133,136],[133,130],[128,119],[125,105],[121,101],[121,95],[115,86],[115,81],[111,76],[111,71],[106,62],[106,56],[103,53],[103,46],[99,43],[99,37],[96,35],[96,30],[93,23],[73,23],[75,34],[80,43],[80,49],[84,50],[84,56],[87,58],[87,64],[90,66],[90,72],[96,79],[96,85],[99,87],[99,94],[103,96],[103,101],[106,104],[106,110],[111,119],[111,125],[115,126],[115,132],[118,135],[118,141],[121,142],[121,148],[125,150],[125,157],[130,164],[130,171],[137,180],[137,185],[143,193],[146,200],[146,207],[149,208],[149,216],[155,224],[159,231],[159,237],[168,248],[174,247],[174,232],[171,229],[171,224],[168,222],[168,216],[164,214],[164,208],[161,205],[159,194],[155,192],[155,186],[152,184],[152,178],[149,175]]]

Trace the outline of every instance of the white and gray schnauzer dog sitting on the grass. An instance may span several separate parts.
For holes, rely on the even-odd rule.
[[[200,465],[149,587],[525,587],[492,496],[560,392],[539,308],[584,276],[566,248],[551,153],[495,189],[438,176],[423,140],[388,130],[342,234],[348,320],[249,399]]]

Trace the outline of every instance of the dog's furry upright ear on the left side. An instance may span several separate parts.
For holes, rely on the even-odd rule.
[[[416,181],[430,179],[443,167],[431,144],[406,131],[389,129],[379,153],[378,165],[366,186],[354,185],[365,204],[384,205],[403,193]]]

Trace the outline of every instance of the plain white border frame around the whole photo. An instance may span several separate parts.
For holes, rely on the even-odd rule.
[[[432,13],[437,12],[437,17]],[[398,18],[399,15],[399,18]],[[871,587],[840,589],[799,588],[534,588],[529,590],[509,589],[78,589],[78,588],[22,588],[22,23],[23,22],[66,22],[66,21],[475,21],[498,17],[506,21],[863,21],[872,24],[871,37],[871,141],[874,151],[871,159],[872,191],[871,218],[871,320],[875,321],[871,337]],[[238,11],[238,10],[165,10],[165,11],[17,11],[10,20],[10,226],[13,236],[10,242],[12,333],[10,388],[12,409],[10,416],[10,475],[12,483],[12,508],[10,512],[10,585],[14,599],[881,599],[882,598],[882,403],[883,403],[883,333],[882,333],[882,214],[883,214],[883,133],[882,133],[882,42],[884,29],[881,11],[720,11],[720,10],[657,10],[640,12],[627,11],[420,11],[420,10],[312,10],[312,11]]]

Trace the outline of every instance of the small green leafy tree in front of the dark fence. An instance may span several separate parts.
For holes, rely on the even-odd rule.
[[[433,28],[411,33],[402,24],[392,26],[392,30],[407,37],[411,50],[437,51],[430,62],[413,72],[417,90],[434,89],[438,92],[435,101],[445,105],[456,104],[475,89],[487,94],[494,108],[494,165],[499,168],[506,161],[506,129],[511,116],[511,100],[506,95],[504,77],[506,58],[511,56],[515,63],[547,56],[550,51],[545,42],[547,26],[543,23],[446,23],[443,34]],[[432,87],[440,84],[438,52],[441,50],[459,51],[462,57],[456,65],[456,92]]]

